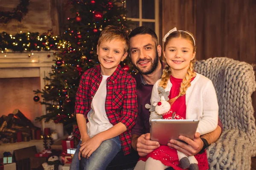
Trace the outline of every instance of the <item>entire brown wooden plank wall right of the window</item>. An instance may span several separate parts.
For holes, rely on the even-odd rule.
[[[174,27],[192,32],[198,60],[256,64],[256,0],[162,0],[162,8],[163,36]],[[252,98],[256,111],[255,92]]]

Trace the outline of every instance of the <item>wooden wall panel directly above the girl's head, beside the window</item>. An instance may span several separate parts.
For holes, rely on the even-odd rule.
[[[195,35],[195,7],[192,0],[163,0],[162,5],[163,37],[174,27]]]

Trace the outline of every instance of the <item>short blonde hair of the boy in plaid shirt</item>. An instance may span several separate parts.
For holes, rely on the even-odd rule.
[[[100,43],[103,40],[111,41],[113,39],[119,39],[119,40],[123,41],[125,43],[124,53],[126,53],[128,51],[128,48],[129,48],[128,35],[124,31],[121,31],[121,29],[116,26],[106,26],[103,29],[103,31],[99,35],[98,45],[100,45]]]

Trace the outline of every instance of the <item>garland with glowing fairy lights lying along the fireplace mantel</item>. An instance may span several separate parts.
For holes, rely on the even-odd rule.
[[[69,43],[62,40],[58,36],[45,33],[39,34],[38,32],[22,33],[12,35],[6,32],[0,33],[0,52],[10,51],[50,51],[59,50],[60,48],[69,47]]]

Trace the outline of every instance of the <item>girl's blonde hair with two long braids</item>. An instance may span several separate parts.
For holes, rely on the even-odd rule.
[[[191,34],[191,33],[190,33]],[[192,34],[191,34],[192,35]],[[166,38],[166,41],[164,43],[164,50],[166,48],[166,45],[168,44],[168,42],[172,39],[172,38],[184,38],[186,40],[188,40],[192,47],[193,47],[193,53],[195,52],[196,50],[196,47],[195,47],[195,44],[194,44],[194,40],[193,40],[193,37],[191,37],[189,34],[187,34],[186,32],[184,31],[174,31],[172,32],[171,34],[169,34],[169,36]],[[182,80],[181,84],[180,84],[180,93],[172,98],[172,99],[169,99],[169,103],[172,105],[180,96],[183,96],[186,94],[186,90],[191,86],[191,79],[194,77],[195,75],[195,72],[194,72],[194,63],[195,63],[196,59],[195,57],[190,61],[190,64],[189,64],[189,68],[188,68],[188,71],[185,75],[185,78]],[[170,66],[166,63],[165,65],[165,68],[163,69],[163,75],[161,77],[161,81],[160,81],[160,84],[159,86],[160,87],[163,87],[163,88],[166,88],[167,87],[167,82],[171,76],[171,68]]]

